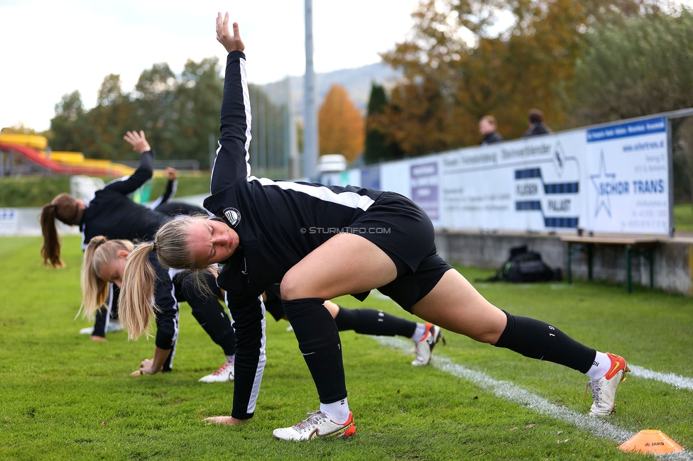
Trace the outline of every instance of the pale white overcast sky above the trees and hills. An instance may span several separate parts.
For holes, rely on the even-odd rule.
[[[313,0],[316,72],[380,62],[413,26],[418,0]],[[218,56],[217,11],[229,11],[246,44],[249,81],[305,70],[303,0],[0,0],[0,128],[50,127],[75,89],[87,109],[107,74],[130,91],[141,72]]]

